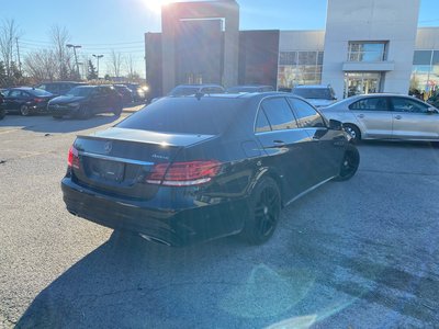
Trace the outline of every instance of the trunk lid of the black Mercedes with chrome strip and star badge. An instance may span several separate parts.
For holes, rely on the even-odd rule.
[[[149,198],[158,189],[147,183],[156,164],[171,163],[182,148],[212,137],[116,127],[78,136],[74,144],[78,166],[72,167],[72,179],[102,193]]]

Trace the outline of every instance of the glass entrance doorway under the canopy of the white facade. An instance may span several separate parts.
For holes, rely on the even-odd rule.
[[[344,98],[381,92],[381,72],[345,72]]]

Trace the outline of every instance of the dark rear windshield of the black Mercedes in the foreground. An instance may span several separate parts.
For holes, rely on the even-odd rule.
[[[159,133],[217,135],[238,115],[244,100],[195,97],[162,99],[116,125]]]

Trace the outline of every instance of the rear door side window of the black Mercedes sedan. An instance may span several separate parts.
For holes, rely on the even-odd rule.
[[[271,129],[282,131],[297,128],[297,122],[284,98],[268,99],[262,102],[261,107],[267,115]]]

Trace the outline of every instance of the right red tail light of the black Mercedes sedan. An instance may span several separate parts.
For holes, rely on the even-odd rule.
[[[146,182],[167,186],[190,186],[207,183],[217,175],[221,162],[216,160],[155,164]]]

